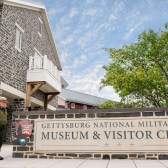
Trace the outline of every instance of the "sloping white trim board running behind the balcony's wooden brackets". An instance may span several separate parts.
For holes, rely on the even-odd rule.
[[[21,91],[15,89],[14,87],[9,86],[9,85],[7,85],[3,82],[0,82],[0,90],[2,90],[2,91],[4,90],[8,93],[11,93],[15,96],[18,96],[18,97],[22,98],[22,99],[25,99],[25,97],[26,97],[26,94],[24,92],[21,92]],[[37,104],[39,106],[43,106],[43,102],[41,100],[35,98],[35,97],[31,97],[31,102],[34,103],[34,104]],[[52,110],[52,111],[56,110],[56,108],[52,105],[48,105],[47,108],[49,110]]]

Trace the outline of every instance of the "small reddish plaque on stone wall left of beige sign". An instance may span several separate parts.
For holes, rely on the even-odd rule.
[[[33,130],[33,124],[30,120],[20,120],[16,122],[16,136],[30,137]]]

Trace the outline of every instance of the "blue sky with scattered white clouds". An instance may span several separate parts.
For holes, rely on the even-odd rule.
[[[144,30],[160,31],[168,22],[168,0],[34,0],[46,6],[69,88],[119,100],[112,87],[99,91],[102,48],[136,42]]]

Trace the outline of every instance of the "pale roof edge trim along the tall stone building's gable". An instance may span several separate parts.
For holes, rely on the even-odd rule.
[[[36,5],[36,4],[30,3],[30,2],[25,2],[25,1],[22,1],[22,0],[0,0],[0,1],[3,1],[3,3],[6,4],[6,5],[11,5],[11,6],[16,6],[16,7],[20,7],[20,8],[26,8],[26,9],[42,12],[42,16],[43,16],[43,19],[44,19],[44,24],[46,26],[50,42],[51,42],[53,51],[55,53],[54,55],[55,55],[55,60],[56,60],[57,67],[58,67],[59,70],[62,70],[60,59],[59,59],[59,56],[58,56],[58,49],[55,45],[55,41],[54,41],[54,38],[53,38],[53,35],[52,35],[52,31],[51,31],[49,19],[48,19],[48,16],[47,16],[46,8],[43,5]]]

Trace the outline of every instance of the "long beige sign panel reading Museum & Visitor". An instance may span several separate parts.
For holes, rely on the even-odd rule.
[[[168,151],[168,117],[35,121],[36,152]]]

